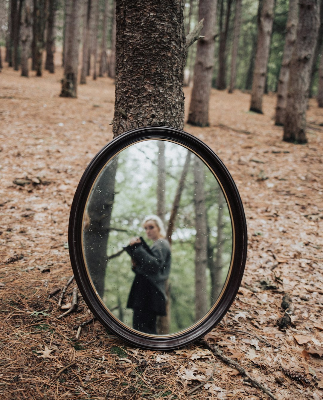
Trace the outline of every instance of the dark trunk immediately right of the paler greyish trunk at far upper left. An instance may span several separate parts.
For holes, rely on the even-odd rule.
[[[42,54],[45,46],[44,34],[47,19],[47,0],[34,0],[34,39],[36,76],[42,76]]]

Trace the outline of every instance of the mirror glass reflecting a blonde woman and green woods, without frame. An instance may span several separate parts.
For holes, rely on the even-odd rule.
[[[162,222],[145,218],[151,214]],[[93,286],[130,328],[185,330],[225,286],[233,249],[229,207],[208,166],[179,144],[146,140],[114,156],[92,186],[83,226]]]

